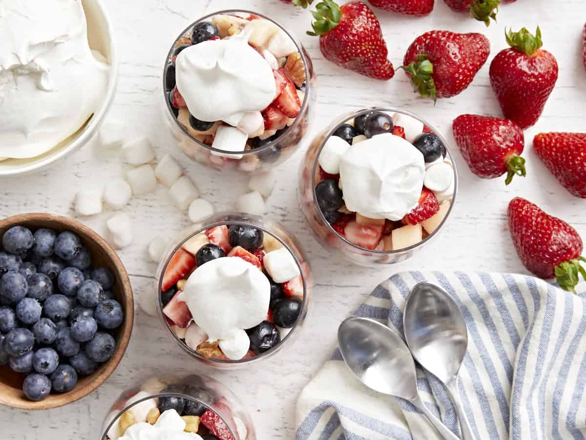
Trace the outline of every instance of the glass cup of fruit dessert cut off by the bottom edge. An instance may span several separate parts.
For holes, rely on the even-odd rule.
[[[100,439],[117,440],[125,432],[136,435],[132,431],[137,429],[155,430],[144,424],[155,425],[159,418],[156,428],[165,427],[167,417],[175,419],[175,424],[182,417],[185,431],[202,437],[256,439],[246,407],[225,385],[205,375],[176,372],[142,378],[123,391],[104,419]],[[142,427],[131,428],[135,424]]]

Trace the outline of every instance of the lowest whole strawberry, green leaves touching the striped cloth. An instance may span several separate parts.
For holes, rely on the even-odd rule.
[[[578,232],[563,220],[542,211],[526,199],[509,203],[509,229],[523,265],[541,278],[557,279],[564,290],[575,293],[586,269],[580,262],[583,245]]]

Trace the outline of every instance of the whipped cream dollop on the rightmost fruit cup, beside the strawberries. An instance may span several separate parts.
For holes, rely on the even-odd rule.
[[[348,148],[340,161],[346,208],[369,218],[402,219],[417,206],[424,175],[423,154],[391,133]]]

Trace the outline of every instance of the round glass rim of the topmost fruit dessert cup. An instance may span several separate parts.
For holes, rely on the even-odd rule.
[[[203,143],[202,141],[197,140],[195,137],[193,137],[189,133],[189,130],[185,126],[183,126],[183,124],[179,123],[178,118],[176,118],[175,115],[173,114],[173,110],[171,108],[171,103],[169,102],[168,94],[169,94],[169,92],[171,92],[171,90],[167,91],[165,89],[165,78],[166,78],[167,69],[169,67],[169,58],[172,56],[173,50],[175,49],[177,42],[181,38],[183,38],[183,36],[185,35],[186,32],[189,31],[189,29],[193,28],[193,25],[195,25],[196,23],[202,22],[210,17],[213,17],[214,15],[220,15],[220,14],[233,15],[233,13],[236,13],[236,12],[250,13],[252,15],[257,15],[261,18],[264,18],[268,21],[271,21],[272,23],[277,25],[283,32],[285,32],[289,38],[291,38],[292,42],[295,43],[295,47],[297,47],[297,52],[299,52],[299,55],[301,55],[301,60],[303,61],[303,65],[304,65],[304,69],[305,69],[305,90],[303,90],[304,99],[303,99],[303,102],[301,103],[301,109],[299,109],[299,115],[297,117],[295,117],[295,121],[293,121],[293,123],[290,126],[281,129],[282,133],[279,134],[279,136],[277,138],[273,139],[272,141],[270,141],[267,144],[264,144],[260,148],[251,148],[250,150],[245,150],[245,151],[226,151],[226,150],[218,150],[217,148],[213,148],[212,145],[207,145],[207,144]],[[223,9],[222,11],[212,12],[212,13],[209,13],[206,16],[203,16],[202,18],[199,18],[196,21],[190,23],[189,26],[187,26],[185,29],[183,29],[183,31],[179,34],[179,36],[175,39],[175,41],[173,41],[173,45],[171,46],[171,49],[169,50],[169,52],[167,53],[167,56],[165,58],[165,67],[163,67],[162,91],[163,91],[163,94],[165,97],[165,105],[167,107],[167,110],[171,114],[173,114],[173,120],[175,120],[175,123],[180,128],[180,130],[183,131],[183,134],[185,134],[186,136],[188,136],[190,138],[190,140],[196,142],[197,144],[206,148],[207,150],[215,151],[216,153],[221,153],[220,157],[234,158],[233,156],[240,157],[243,155],[246,156],[249,154],[258,154],[261,151],[268,150],[268,148],[272,147],[275,143],[278,142],[278,140],[280,140],[283,136],[285,136],[287,133],[289,133],[289,130],[292,130],[294,127],[297,127],[301,123],[300,122],[301,118],[299,116],[301,116],[301,114],[304,113],[304,111],[309,106],[309,92],[310,92],[310,88],[311,88],[311,84],[309,81],[311,76],[309,73],[307,59],[308,59],[308,56],[306,56],[306,54],[304,53],[303,46],[301,45],[301,42],[299,42],[299,40],[291,32],[289,32],[287,29],[285,29],[285,27],[282,26],[281,23],[268,17],[267,15],[264,15],[263,13],[249,11],[248,9]]]

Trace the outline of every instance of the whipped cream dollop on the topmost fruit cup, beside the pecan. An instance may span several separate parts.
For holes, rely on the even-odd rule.
[[[277,93],[271,66],[248,45],[251,29],[183,49],[175,61],[179,93],[194,117],[229,120],[267,108]]]

